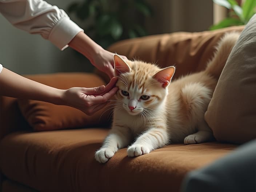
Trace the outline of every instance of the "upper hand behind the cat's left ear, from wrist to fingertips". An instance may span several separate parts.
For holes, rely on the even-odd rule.
[[[93,56],[91,63],[100,71],[107,73],[107,75],[112,78],[115,76],[114,73],[114,57],[115,53],[109,52],[103,48],[99,50]],[[120,55],[123,59],[127,59],[126,56]]]

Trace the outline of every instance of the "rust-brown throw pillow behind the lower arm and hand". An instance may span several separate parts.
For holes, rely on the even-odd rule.
[[[105,84],[99,76],[92,73],[55,73],[26,77],[60,89],[70,87],[88,88]],[[88,116],[78,109],[43,101],[18,99],[18,104],[21,113],[35,131],[109,125],[109,110],[103,113],[108,109],[107,107],[92,116]]]

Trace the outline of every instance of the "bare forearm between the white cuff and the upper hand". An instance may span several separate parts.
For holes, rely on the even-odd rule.
[[[76,51],[82,53],[87,57],[91,63],[94,63],[94,56],[99,54],[103,49],[100,45],[95,43],[90,37],[88,37],[84,32],[79,32],[70,42],[69,47],[75,49]]]

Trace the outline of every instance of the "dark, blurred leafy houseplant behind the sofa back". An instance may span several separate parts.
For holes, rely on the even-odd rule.
[[[83,21],[85,33],[102,47],[115,41],[145,36],[143,21],[152,15],[144,0],[83,0],[68,7]]]

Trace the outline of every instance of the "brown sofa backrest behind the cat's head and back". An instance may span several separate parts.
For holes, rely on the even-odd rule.
[[[234,26],[215,31],[175,32],[119,41],[108,50],[128,59],[141,59],[157,63],[161,68],[176,66],[174,79],[191,72],[203,70],[212,58],[215,46],[226,32],[242,31],[244,26]],[[99,73],[99,72],[97,72]],[[100,76],[104,76],[100,72]],[[107,76],[104,76],[108,79]]]

